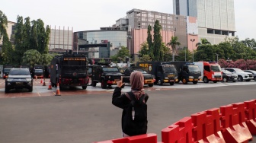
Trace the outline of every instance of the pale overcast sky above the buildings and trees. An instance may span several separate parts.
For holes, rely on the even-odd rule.
[[[256,39],[256,0],[235,1],[235,35],[239,40]],[[41,19],[45,24],[69,27],[69,30],[99,30],[126,16],[126,11],[138,8],[173,14],[172,0],[0,0],[0,10],[8,21],[17,16]]]

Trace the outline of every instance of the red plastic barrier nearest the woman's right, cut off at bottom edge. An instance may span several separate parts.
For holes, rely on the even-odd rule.
[[[192,122],[190,117],[175,122],[171,126],[162,129],[163,143],[193,143],[192,138]]]

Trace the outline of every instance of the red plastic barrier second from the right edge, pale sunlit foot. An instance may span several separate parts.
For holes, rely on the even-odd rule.
[[[222,135],[226,142],[248,142],[251,133],[245,124],[245,103],[220,106]]]

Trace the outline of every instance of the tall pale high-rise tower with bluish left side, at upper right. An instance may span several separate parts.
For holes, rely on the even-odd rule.
[[[174,14],[197,17],[198,37],[212,44],[235,37],[234,0],[173,0]]]

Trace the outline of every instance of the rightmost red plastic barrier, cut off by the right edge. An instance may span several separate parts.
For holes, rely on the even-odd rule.
[[[256,135],[256,100],[245,101],[245,107],[246,125],[251,135]]]

